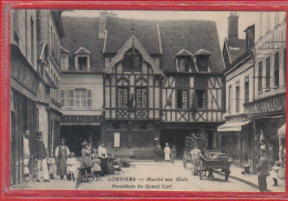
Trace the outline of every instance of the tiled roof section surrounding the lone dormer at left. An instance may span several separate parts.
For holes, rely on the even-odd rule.
[[[104,39],[99,39],[99,18],[62,17],[65,37],[61,44],[71,52],[69,57],[70,70],[74,68],[74,52],[81,47],[91,52],[91,71],[102,72],[104,67]]]

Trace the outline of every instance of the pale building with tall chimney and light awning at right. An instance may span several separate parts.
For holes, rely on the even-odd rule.
[[[232,24],[233,23],[233,24]],[[244,103],[253,101],[255,26],[245,30],[246,39],[238,39],[238,14],[228,17],[228,38],[224,41],[226,112],[225,123],[218,127],[223,150],[236,165],[254,165],[251,121]]]

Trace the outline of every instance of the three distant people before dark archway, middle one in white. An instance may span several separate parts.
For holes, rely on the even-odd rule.
[[[154,148],[154,154],[155,154],[155,161],[161,161],[163,159],[163,153],[164,153],[164,161],[171,161],[172,163],[174,163],[175,158],[176,158],[176,148],[175,145],[172,145],[172,148],[169,148],[168,143],[165,143],[165,148],[162,151],[162,147],[160,144],[157,144]]]

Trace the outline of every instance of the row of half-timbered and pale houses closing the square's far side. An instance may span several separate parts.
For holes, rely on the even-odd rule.
[[[224,63],[214,22],[153,22],[103,12],[100,18],[65,17],[63,24],[79,31],[61,41],[66,67],[62,68],[62,111],[71,115],[71,121],[62,120],[61,132],[71,130],[72,119],[83,113],[97,119],[83,121],[88,124],[82,128],[90,123],[97,128],[89,138],[84,133],[89,129],[80,129],[78,139],[103,141],[110,153],[120,157],[152,158],[157,143],[176,145],[181,155],[185,137],[193,132],[208,139],[208,149],[219,147]],[[85,37],[72,40],[80,36]],[[90,91],[69,92],[80,88]],[[78,97],[89,98],[76,103]],[[72,132],[66,131],[66,137]]]

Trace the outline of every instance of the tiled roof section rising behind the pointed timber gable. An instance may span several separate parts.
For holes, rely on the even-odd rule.
[[[132,36],[135,36],[150,54],[161,54],[161,40],[155,21],[107,17],[106,30],[104,53],[116,53]]]

